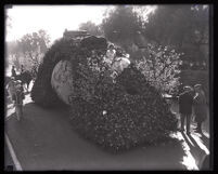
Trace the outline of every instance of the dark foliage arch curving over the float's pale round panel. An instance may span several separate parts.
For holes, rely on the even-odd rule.
[[[75,71],[80,67],[79,62],[89,57],[93,48],[101,51],[106,49],[102,38],[93,43],[94,39],[92,37],[87,40],[62,38],[49,49],[39,67],[37,79],[31,90],[31,98],[36,104],[46,107],[64,105],[52,89],[52,71],[60,61],[66,59],[72,63],[73,73],[75,75]]]

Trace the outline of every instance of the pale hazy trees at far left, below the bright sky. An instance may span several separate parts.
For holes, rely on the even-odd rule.
[[[25,70],[36,75],[49,43],[49,35],[42,29],[38,32],[26,34],[20,40],[7,42],[9,64],[14,64],[16,69],[20,69],[23,64]]]

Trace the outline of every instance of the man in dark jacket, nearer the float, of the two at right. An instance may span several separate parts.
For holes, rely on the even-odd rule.
[[[193,105],[193,90],[189,85],[184,86],[183,90],[184,92],[179,96],[179,112],[181,119],[180,131],[184,131],[184,120],[187,120],[187,134],[189,135]]]

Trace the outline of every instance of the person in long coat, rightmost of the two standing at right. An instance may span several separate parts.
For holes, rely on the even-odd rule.
[[[197,123],[196,132],[202,133],[202,124],[207,118],[207,108],[206,108],[206,97],[202,89],[202,84],[195,84],[195,96],[194,96],[194,112],[195,112],[195,122]]]

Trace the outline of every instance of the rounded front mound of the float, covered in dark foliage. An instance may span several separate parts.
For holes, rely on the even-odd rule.
[[[70,120],[82,136],[113,151],[154,145],[177,129],[177,119],[161,93],[136,65],[117,73],[103,58],[92,57],[78,68],[78,96]],[[88,66],[89,65],[89,66]]]

